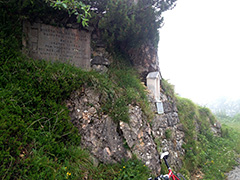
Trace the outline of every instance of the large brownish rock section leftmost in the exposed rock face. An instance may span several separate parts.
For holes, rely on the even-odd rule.
[[[94,105],[94,106],[92,106]],[[71,121],[81,134],[81,145],[103,163],[116,163],[130,158],[124,147],[124,139],[118,132],[118,124],[107,115],[99,114],[99,94],[91,89],[76,91],[67,102]]]

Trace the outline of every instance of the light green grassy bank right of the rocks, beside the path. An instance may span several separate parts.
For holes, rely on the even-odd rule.
[[[191,174],[201,169],[205,180],[225,179],[224,174],[236,165],[236,152],[240,152],[240,133],[223,126],[222,136],[216,137],[210,131],[210,125],[216,122],[216,118],[209,109],[180,97],[177,97],[177,106],[186,142],[182,171]],[[196,130],[196,124],[199,131]]]

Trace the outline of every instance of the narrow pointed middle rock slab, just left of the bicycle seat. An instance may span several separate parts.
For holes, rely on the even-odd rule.
[[[129,123],[120,122],[120,129],[127,145],[133,154],[154,172],[159,173],[161,170],[159,153],[152,137],[150,124],[139,106],[129,105],[129,115]]]

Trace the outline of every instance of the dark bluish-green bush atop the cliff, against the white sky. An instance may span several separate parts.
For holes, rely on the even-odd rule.
[[[101,32],[111,52],[127,53],[129,48],[151,42],[157,47],[162,12],[174,7],[176,0],[85,0],[92,7],[90,23]]]

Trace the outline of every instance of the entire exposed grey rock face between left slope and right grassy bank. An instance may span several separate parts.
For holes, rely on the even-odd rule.
[[[100,93],[92,89],[74,92],[66,102],[73,124],[81,134],[81,146],[88,149],[96,162],[116,163],[136,155],[154,173],[159,174],[160,153],[170,152],[170,164],[179,168],[176,160],[184,154],[182,149],[184,133],[179,123],[174,101],[162,95],[165,114],[156,114],[148,122],[141,108],[129,105],[129,123],[114,122],[101,114]],[[149,97],[151,101],[151,97]],[[152,103],[153,111],[156,111]],[[166,132],[170,135],[166,137]],[[178,158],[179,159],[179,158]]]

